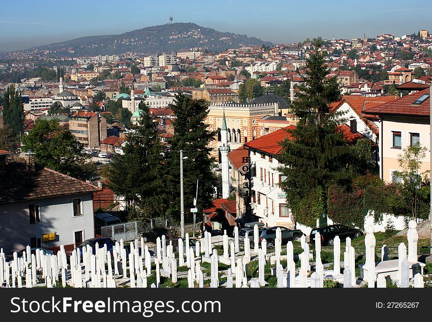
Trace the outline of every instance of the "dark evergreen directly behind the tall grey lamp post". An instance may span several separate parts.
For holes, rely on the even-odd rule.
[[[215,132],[204,123],[207,116],[208,103],[204,99],[191,99],[186,95],[177,95],[174,104],[170,104],[176,115],[174,137],[171,149],[167,153],[168,185],[171,196],[168,212],[172,218],[180,219],[180,150],[184,150],[184,205],[185,213],[193,206],[198,184],[198,211],[212,206],[212,194],[216,185],[216,177],[212,173],[214,158],[210,156],[209,143],[214,139]]]

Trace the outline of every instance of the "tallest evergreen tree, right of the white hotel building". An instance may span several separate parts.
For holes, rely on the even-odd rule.
[[[316,49],[321,45],[314,43]],[[329,110],[329,104],[341,99],[336,77],[326,78],[329,70],[318,50],[306,60],[306,68],[309,77],[291,105],[297,127],[287,130],[290,137],[281,144],[280,170],[286,176],[281,186],[297,222],[315,226],[327,213],[329,185],[349,184],[351,151],[338,128],[342,114]]]

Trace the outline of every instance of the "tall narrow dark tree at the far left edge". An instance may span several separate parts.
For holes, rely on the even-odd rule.
[[[21,92],[13,85],[6,88],[3,96],[3,124],[9,125],[16,137],[24,131],[24,107]]]

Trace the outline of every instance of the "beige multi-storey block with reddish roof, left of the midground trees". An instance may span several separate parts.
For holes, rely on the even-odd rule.
[[[84,148],[99,147],[107,138],[107,120],[96,112],[78,111],[70,118],[69,130]]]

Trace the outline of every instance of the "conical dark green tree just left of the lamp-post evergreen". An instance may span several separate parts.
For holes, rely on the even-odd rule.
[[[133,205],[130,220],[160,217],[166,211],[162,146],[149,108],[139,104],[141,118],[126,136],[124,154],[116,155],[108,168],[110,189]]]

